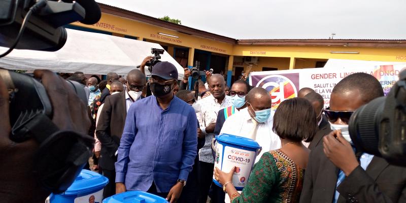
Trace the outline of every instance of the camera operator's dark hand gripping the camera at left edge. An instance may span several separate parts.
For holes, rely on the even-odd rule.
[[[60,129],[87,133],[90,121],[86,105],[80,102],[66,82],[50,71],[36,71],[34,74],[42,79],[47,90],[53,108],[52,121]],[[1,77],[0,112],[3,112],[3,118],[0,119],[1,201],[43,203],[50,192],[43,190],[32,176],[33,159],[39,145],[33,139],[22,143],[10,140],[9,93]]]

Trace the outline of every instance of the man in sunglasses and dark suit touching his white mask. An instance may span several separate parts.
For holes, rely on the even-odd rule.
[[[406,202],[406,168],[356,149],[348,133],[352,113],[383,95],[369,74],[337,83],[324,111],[334,131],[310,153],[300,202]]]

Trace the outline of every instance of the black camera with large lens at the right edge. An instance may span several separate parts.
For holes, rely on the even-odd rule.
[[[406,166],[406,71],[400,72],[387,97],[354,112],[349,132],[354,145],[364,152]]]

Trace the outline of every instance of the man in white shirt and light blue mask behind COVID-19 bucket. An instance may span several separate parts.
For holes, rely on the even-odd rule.
[[[270,109],[272,103],[268,91],[255,87],[245,99],[247,108],[227,118],[220,134],[233,134],[255,140],[262,147],[255,159],[257,162],[263,153],[281,148],[281,140],[272,130],[274,112]],[[230,202],[228,195],[225,195],[225,202]]]

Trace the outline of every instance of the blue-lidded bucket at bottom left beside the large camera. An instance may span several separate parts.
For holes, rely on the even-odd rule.
[[[103,189],[109,183],[106,177],[82,170],[71,187],[60,194],[51,194],[51,203],[76,203],[76,202],[101,202],[103,200]]]

